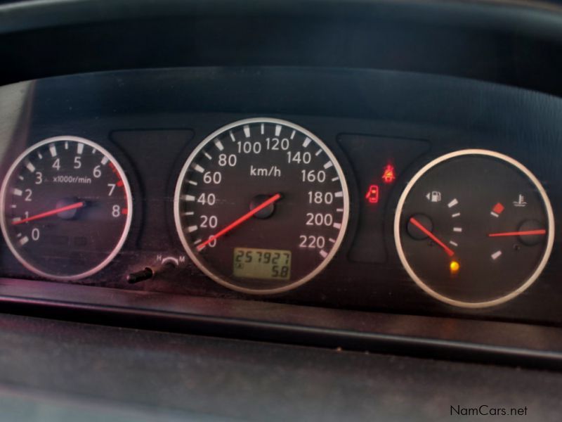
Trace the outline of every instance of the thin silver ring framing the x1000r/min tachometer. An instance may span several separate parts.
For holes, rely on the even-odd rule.
[[[48,272],[42,271],[41,269],[38,269],[38,268],[34,267],[32,264],[30,264],[29,262],[27,262],[27,260],[25,260],[25,258],[20,255],[17,248],[14,247],[14,245],[11,241],[11,238],[8,234],[8,229],[6,227],[6,208],[5,208],[6,207],[6,189],[8,188],[8,183],[9,183],[9,181],[10,181],[12,175],[13,175],[13,172],[15,172],[15,170],[18,169],[18,167],[20,166],[22,161],[25,160],[25,158],[27,158],[27,156],[30,155],[30,153],[32,153],[33,151],[36,151],[37,149],[41,148],[42,146],[44,146],[48,143],[60,142],[60,141],[79,142],[79,143],[84,143],[87,146],[91,146],[92,148],[96,148],[96,150],[100,151],[100,153],[102,153],[105,157],[107,157],[110,160],[110,162],[113,163],[113,165],[115,165],[115,170],[117,170],[117,172],[119,172],[119,176],[121,177],[121,179],[123,181],[123,185],[124,185],[123,187],[124,187],[125,193],[126,193],[127,208],[128,208],[128,211],[129,211],[127,213],[127,216],[126,216],[126,222],[125,222],[125,226],[124,226],[124,229],[123,229],[123,233],[122,233],[121,237],[119,238],[119,241],[117,242],[117,245],[115,246],[115,248],[113,248],[112,252],[110,253],[110,255],[107,255],[105,260],[100,262],[100,264],[96,265],[96,267],[93,267],[92,269],[89,269],[88,271],[84,271],[80,274],[72,274],[70,276],[56,276],[54,274],[49,274]],[[109,151],[107,151],[105,148],[103,148],[103,146],[100,146],[98,143],[90,141],[89,139],[82,138],[81,136],[70,136],[70,135],[69,136],[53,136],[51,138],[44,139],[43,141],[39,141],[38,143],[34,143],[32,146],[30,146],[25,151],[23,151],[20,155],[18,155],[18,158],[16,158],[14,160],[14,162],[12,163],[10,168],[8,169],[8,172],[6,172],[6,176],[4,177],[4,181],[2,182],[2,187],[0,189],[0,227],[1,227],[1,230],[2,230],[2,234],[4,236],[4,240],[6,241],[6,245],[8,245],[8,248],[11,250],[11,252],[16,257],[16,259],[26,269],[28,269],[28,270],[32,271],[34,274],[37,274],[38,276],[44,277],[46,279],[57,280],[57,281],[75,281],[75,280],[79,280],[79,279],[85,279],[86,277],[89,277],[93,274],[96,274],[98,271],[101,271],[102,269],[107,267],[107,265],[110,264],[110,262],[112,262],[112,260],[121,251],[121,249],[122,249],[122,247],[123,247],[123,245],[126,241],[127,236],[129,236],[129,231],[131,229],[131,222],[132,221],[133,221],[133,196],[131,194],[131,186],[129,185],[129,180],[126,177],[126,174],[123,170],[123,167],[121,167],[121,165],[115,159],[115,157]]]

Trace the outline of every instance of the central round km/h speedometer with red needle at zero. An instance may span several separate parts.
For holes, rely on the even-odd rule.
[[[174,198],[185,250],[244,293],[280,293],[326,267],[344,238],[349,195],[339,163],[306,129],[258,118],[207,136]]]

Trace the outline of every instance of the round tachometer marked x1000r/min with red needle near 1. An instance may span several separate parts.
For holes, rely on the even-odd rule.
[[[96,273],[117,255],[131,225],[131,189],[121,166],[76,136],[46,139],[22,153],[0,198],[9,248],[49,279]]]

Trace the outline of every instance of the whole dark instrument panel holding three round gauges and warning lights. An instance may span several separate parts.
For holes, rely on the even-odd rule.
[[[560,322],[556,98],[289,68],[3,91],[6,278]]]

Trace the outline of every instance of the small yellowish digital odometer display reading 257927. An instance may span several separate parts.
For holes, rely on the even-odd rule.
[[[234,276],[258,280],[289,280],[291,251],[234,248]]]

